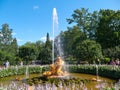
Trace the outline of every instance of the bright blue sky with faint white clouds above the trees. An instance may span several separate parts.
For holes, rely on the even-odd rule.
[[[69,26],[66,18],[71,18],[75,9],[119,10],[119,4],[120,0],[0,0],[0,26],[9,24],[18,45],[23,45],[44,40],[47,33],[52,37],[53,8],[57,10],[59,32]]]

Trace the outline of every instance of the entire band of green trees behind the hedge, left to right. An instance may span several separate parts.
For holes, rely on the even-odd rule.
[[[56,41],[60,39],[62,51],[59,51],[59,55],[62,53],[65,59],[93,63],[100,58],[103,60],[102,63],[107,63],[104,58],[120,57],[120,10],[101,9],[89,12],[85,8],[76,9],[67,22],[70,24],[67,30],[55,37]],[[0,64],[8,60],[15,65],[18,57],[26,61],[26,64],[32,60],[38,60],[41,64],[52,63],[52,41],[48,33],[45,43],[26,42],[19,47],[12,33],[13,29],[10,29],[7,23],[2,25]],[[57,49],[58,46],[55,47],[55,50]],[[56,51],[55,56],[57,56]]]

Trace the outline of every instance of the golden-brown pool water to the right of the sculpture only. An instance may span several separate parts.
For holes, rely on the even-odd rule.
[[[116,80],[112,80],[109,78],[105,78],[105,77],[98,77],[98,81],[97,80],[93,80],[97,78],[97,76],[95,75],[90,75],[90,74],[79,74],[79,73],[71,73],[70,74],[73,77],[76,78],[81,78],[81,79],[87,79],[87,80],[91,80],[91,82],[86,83],[87,88],[92,88],[93,90],[99,90],[97,88],[99,87],[111,87]]]

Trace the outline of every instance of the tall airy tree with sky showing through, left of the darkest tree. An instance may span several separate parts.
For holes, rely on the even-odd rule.
[[[88,9],[81,8],[74,10],[71,19],[67,19],[69,24],[76,24],[79,29],[89,38],[94,39],[95,29],[99,21],[99,14],[97,11],[90,13]]]

